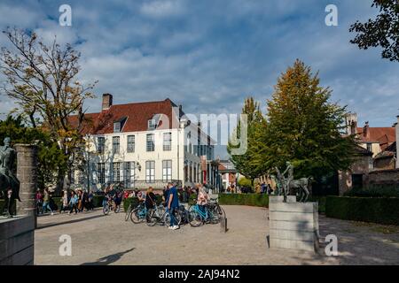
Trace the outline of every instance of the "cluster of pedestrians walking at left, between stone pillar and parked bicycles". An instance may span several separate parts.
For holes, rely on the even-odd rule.
[[[51,191],[48,187],[44,190],[38,189],[35,194],[36,209],[38,215],[43,215],[47,211],[54,215],[54,211],[59,208],[59,213],[73,211],[75,214],[82,212],[83,210],[94,210],[93,204],[94,195],[86,190],[64,190],[60,199],[60,205],[57,205],[52,199]]]

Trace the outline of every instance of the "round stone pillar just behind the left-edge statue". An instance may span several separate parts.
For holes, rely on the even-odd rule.
[[[17,178],[20,180],[20,200],[17,201],[17,215],[33,216],[32,221],[37,226],[35,210],[37,147],[28,144],[16,144]]]

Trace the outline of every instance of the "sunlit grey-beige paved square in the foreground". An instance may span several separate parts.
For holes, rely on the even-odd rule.
[[[224,206],[220,226],[182,226],[171,231],[124,221],[101,210],[38,218],[35,264],[399,264],[399,228],[320,216],[322,238],[335,234],[339,256],[268,249],[268,210]],[[72,237],[72,256],[59,256],[59,236]],[[322,252],[324,252],[322,243]]]

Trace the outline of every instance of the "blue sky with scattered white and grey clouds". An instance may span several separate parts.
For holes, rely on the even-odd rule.
[[[59,5],[72,7],[72,27],[59,26]],[[336,4],[339,26],[325,26]],[[115,103],[169,97],[191,113],[238,113],[246,96],[265,110],[278,75],[300,58],[348,104],[359,124],[392,126],[399,114],[399,64],[379,49],[358,50],[348,27],[376,14],[371,0],[8,1],[0,27],[33,29],[82,51],[80,80],[99,80]],[[2,34],[0,45],[7,42]],[[13,106],[0,96],[0,113]]]

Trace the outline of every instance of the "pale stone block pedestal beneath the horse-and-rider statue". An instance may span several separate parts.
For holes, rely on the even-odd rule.
[[[270,195],[270,248],[316,252],[318,249],[318,204],[296,203],[295,196]]]

